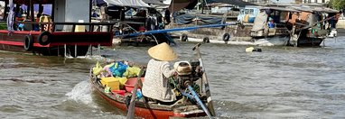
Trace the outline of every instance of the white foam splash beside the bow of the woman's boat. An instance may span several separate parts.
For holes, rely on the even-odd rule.
[[[73,87],[73,89],[67,93],[66,96],[69,96],[70,100],[96,108],[97,105],[93,102],[91,94],[91,86],[87,80],[84,80]]]

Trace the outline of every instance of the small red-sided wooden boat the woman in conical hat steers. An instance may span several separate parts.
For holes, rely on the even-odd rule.
[[[188,76],[189,77],[189,76]],[[92,68],[89,72],[89,82],[95,92],[104,98],[110,105],[117,107],[118,109],[127,112],[126,98],[127,96],[132,96],[130,92],[126,92],[125,95],[120,95],[117,93],[106,93],[105,88],[102,86],[101,78],[93,74]],[[184,79],[187,77],[184,77]],[[203,73],[200,79],[206,78],[206,74]],[[135,78],[136,79],[136,78]],[[129,80],[129,79],[128,79]],[[199,80],[200,81],[200,80]],[[202,83],[203,82],[203,83]],[[210,98],[210,87],[205,80],[201,81],[204,84],[200,87],[200,100],[206,104],[206,108],[209,110],[205,112],[200,105],[190,102],[187,98],[178,98],[178,101],[170,105],[154,103],[146,99],[136,99],[135,101],[135,115],[143,118],[154,118],[154,119],[166,119],[171,117],[198,117],[205,116],[207,113],[214,115],[213,105],[211,104]],[[203,88],[203,89],[201,89]],[[201,91],[203,90],[203,91]],[[206,91],[205,91],[206,90]],[[199,92],[199,91],[198,91]],[[146,100],[146,101],[145,101]],[[127,100],[128,101],[128,100]]]

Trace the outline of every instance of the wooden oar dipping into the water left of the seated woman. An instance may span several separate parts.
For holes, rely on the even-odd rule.
[[[135,118],[135,96],[136,96],[136,89],[139,85],[139,81],[143,75],[144,72],[144,67],[140,68],[140,72],[138,75],[138,78],[136,79],[136,83],[135,83],[135,88],[132,91],[132,98],[131,98],[131,102],[128,106],[128,112],[127,112],[127,119],[134,119]]]

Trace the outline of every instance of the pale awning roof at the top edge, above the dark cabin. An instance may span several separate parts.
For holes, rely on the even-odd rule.
[[[147,5],[143,0],[104,0],[107,6],[130,6],[130,7],[151,7]]]

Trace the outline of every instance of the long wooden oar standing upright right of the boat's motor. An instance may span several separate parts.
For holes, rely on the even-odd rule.
[[[196,50],[197,53],[198,53],[198,58],[199,58],[199,61],[200,61],[200,66],[202,68],[202,79],[201,79],[201,92],[202,92],[202,84],[205,83],[205,92],[206,92],[206,96],[207,96],[207,106],[209,108],[209,111],[210,111],[210,114],[212,116],[216,115],[215,111],[214,111],[214,108],[213,108],[213,103],[212,103],[212,98],[210,97],[210,86],[209,86],[209,79],[207,78],[206,76],[206,71],[205,71],[205,68],[204,68],[204,65],[203,65],[203,61],[201,59],[201,55],[200,55],[200,50],[199,50],[199,47],[200,47],[200,43],[196,44],[192,50]],[[204,80],[204,81],[202,81]]]

